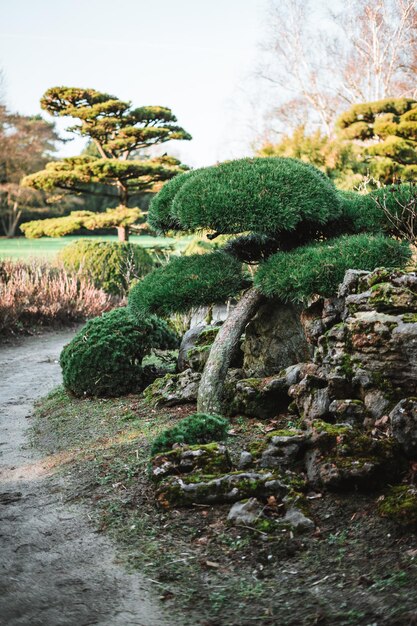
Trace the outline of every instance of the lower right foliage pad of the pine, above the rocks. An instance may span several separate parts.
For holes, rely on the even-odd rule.
[[[278,252],[261,265],[255,286],[283,302],[306,302],[313,294],[336,294],[345,272],[352,267],[403,267],[411,258],[406,242],[382,235],[351,235]]]

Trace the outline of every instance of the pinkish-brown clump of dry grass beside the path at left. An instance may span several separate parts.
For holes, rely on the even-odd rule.
[[[100,315],[115,302],[87,278],[63,265],[0,261],[0,334],[66,324]]]

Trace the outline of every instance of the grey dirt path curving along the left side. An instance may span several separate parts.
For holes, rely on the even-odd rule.
[[[138,574],[115,563],[88,512],[63,502],[60,479],[28,447],[33,401],[61,380],[68,331],[0,347],[0,624],[164,626]]]

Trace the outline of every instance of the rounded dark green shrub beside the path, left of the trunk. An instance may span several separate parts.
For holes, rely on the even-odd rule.
[[[142,359],[152,348],[176,347],[164,320],[135,318],[127,308],[96,317],[61,353],[66,389],[76,396],[119,396],[142,388]]]

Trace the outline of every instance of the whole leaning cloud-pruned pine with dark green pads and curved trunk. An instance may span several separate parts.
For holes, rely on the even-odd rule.
[[[386,236],[392,225],[372,199],[337,192],[322,172],[295,159],[243,159],[182,174],[154,198],[149,220],[161,231],[237,235],[220,251],[170,261],[129,296],[139,317],[167,315],[239,297],[249,286],[211,348],[198,394],[206,413],[221,412],[231,356],[266,296],[331,295],[349,268],[401,266],[410,257],[407,243]],[[253,286],[242,262],[259,265]]]

